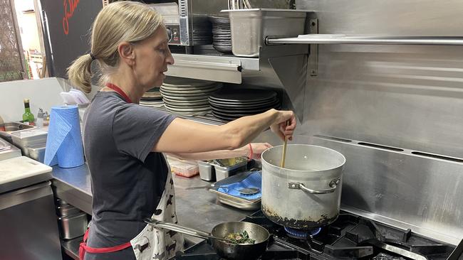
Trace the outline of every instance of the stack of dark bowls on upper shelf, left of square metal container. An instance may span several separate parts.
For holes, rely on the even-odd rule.
[[[230,19],[210,16],[212,22],[212,46],[221,53],[231,53]]]

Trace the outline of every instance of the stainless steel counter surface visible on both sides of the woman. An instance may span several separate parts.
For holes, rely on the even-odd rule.
[[[53,189],[56,196],[91,215],[92,191],[87,164],[76,168],[53,166]],[[199,175],[184,178],[174,175],[176,208],[179,224],[187,227],[212,230],[216,224],[242,220],[249,211],[222,205],[214,193],[207,190],[186,190],[188,187],[208,185]],[[189,237],[197,243],[202,239]]]

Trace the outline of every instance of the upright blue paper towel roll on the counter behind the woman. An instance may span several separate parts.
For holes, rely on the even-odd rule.
[[[83,162],[78,107],[52,107],[43,163],[73,168],[83,165]]]

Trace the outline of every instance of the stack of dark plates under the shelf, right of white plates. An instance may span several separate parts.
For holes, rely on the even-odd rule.
[[[239,117],[280,109],[281,102],[274,90],[227,86],[209,96],[212,114],[231,121]]]

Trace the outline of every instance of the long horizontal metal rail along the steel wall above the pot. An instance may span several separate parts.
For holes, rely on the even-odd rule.
[[[372,44],[372,45],[463,45],[463,37],[346,37],[323,34],[308,34],[294,38],[266,38],[266,44]]]

